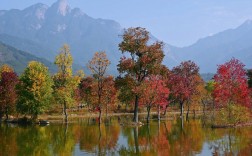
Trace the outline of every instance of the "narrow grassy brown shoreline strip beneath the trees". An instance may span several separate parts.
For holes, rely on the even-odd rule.
[[[142,112],[139,113],[139,123],[134,123],[131,121],[133,118],[133,113],[108,113],[107,116],[106,114],[102,115],[102,120],[106,120],[106,117],[111,118],[111,117],[118,117],[118,120],[120,120],[123,125],[125,123],[129,123],[131,125],[137,125],[139,123],[144,123],[146,121],[146,116],[147,112]],[[152,117],[150,120],[157,120],[157,112],[152,112],[150,114]],[[199,117],[202,116],[202,113],[196,113],[196,119],[199,119]],[[59,123],[77,123],[79,119],[92,119],[94,122],[96,121],[95,118],[98,118],[99,114],[98,113],[85,113],[85,114],[74,114],[70,113],[68,115],[68,120],[65,122],[65,116],[64,115],[48,115],[48,114],[42,114],[38,116],[38,119],[35,122],[32,122],[29,120],[29,118],[24,118],[24,116],[21,116],[19,118],[11,117],[9,120],[5,120],[4,118],[0,120],[0,123],[12,123],[12,124],[39,124],[39,125],[44,125],[44,124],[59,124]],[[122,118],[120,118],[122,117]],[[169,112],[165,116],[162,114],[161,115],[161,121],[164,120],[176,120],[177,118],[180,118],[180,112]],[[184,119],[186,118],[186,115],[184,115]],[[23,120],[24,119],[24,120]],[[194,119],[193,113],[190,113],[190,119]],[[226,125],[221,125],[221,124],[209,124],[209,128],[212,129],[225,129],[225,128],[239,128],[239,127],[250,127],[252,126],[252,122],[244,122],[244,123],[239,123],[239,124],[226,124]]]

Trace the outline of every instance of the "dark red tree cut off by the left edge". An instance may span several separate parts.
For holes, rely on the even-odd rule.
[[[3,114],[8,120],[9,114],[14,112],[16,107],[18,76],[12,68],[6,65],[2,67],[4,68],[0,70],[0,120]]]

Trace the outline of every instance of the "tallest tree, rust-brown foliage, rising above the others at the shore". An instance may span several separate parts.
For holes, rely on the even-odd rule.
[[[144,28],[129,28],[123,34],[123,41],[119,44],[122,53],[129,53],[130,57],[123,56],[118,64],[118,71],[129,76],[137,88],[149,75],[159,74],[164,58],[163,43],[149,44],[149,32]],[[134,122],[138,122],[139,95],[135,94]]]

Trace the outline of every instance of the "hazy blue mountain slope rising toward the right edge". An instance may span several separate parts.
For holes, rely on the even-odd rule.
[[[171,50],[178,62],[193,60],[201,72],[216,72],[217,65],[231,58],[241,60],[252,68],[252,21],[248,20],[235,29],[229,29],[198,40],[195,44]]]

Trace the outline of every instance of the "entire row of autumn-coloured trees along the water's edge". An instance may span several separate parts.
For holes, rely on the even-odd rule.
[[[156,108],[158,119],[169,105],[178,105],[183,116],[184,108],[201,107],[221,110],[221,119],[238,123],[249,117],[251,108],[252,71],[233,58],[218,66],[213,80],[205,83],[199,67],[193,61],[181,62],[173,69],[162,64],[163,43],[149,41],[144,28],[125,30],[119,50],[123,56],[117,65],[120,75],[106,75],[110,65],[105,52],[96,52],[89,61],[91,76],[83,71],[72,72],[73,58],[68,45],[63,45],[55,58],[58,72],[50,75],[42,63],[31,61],[18,77],[8,65],[0,69],[0,118],[18,113],[38,115],[60,106],[67,120],[70,107],[87,107],[99,112],[134,107],[133,121],[138,123],[139,108],[146,108],[147,121],[151,109]],[[206,107],[207,106],[207,107]]]

